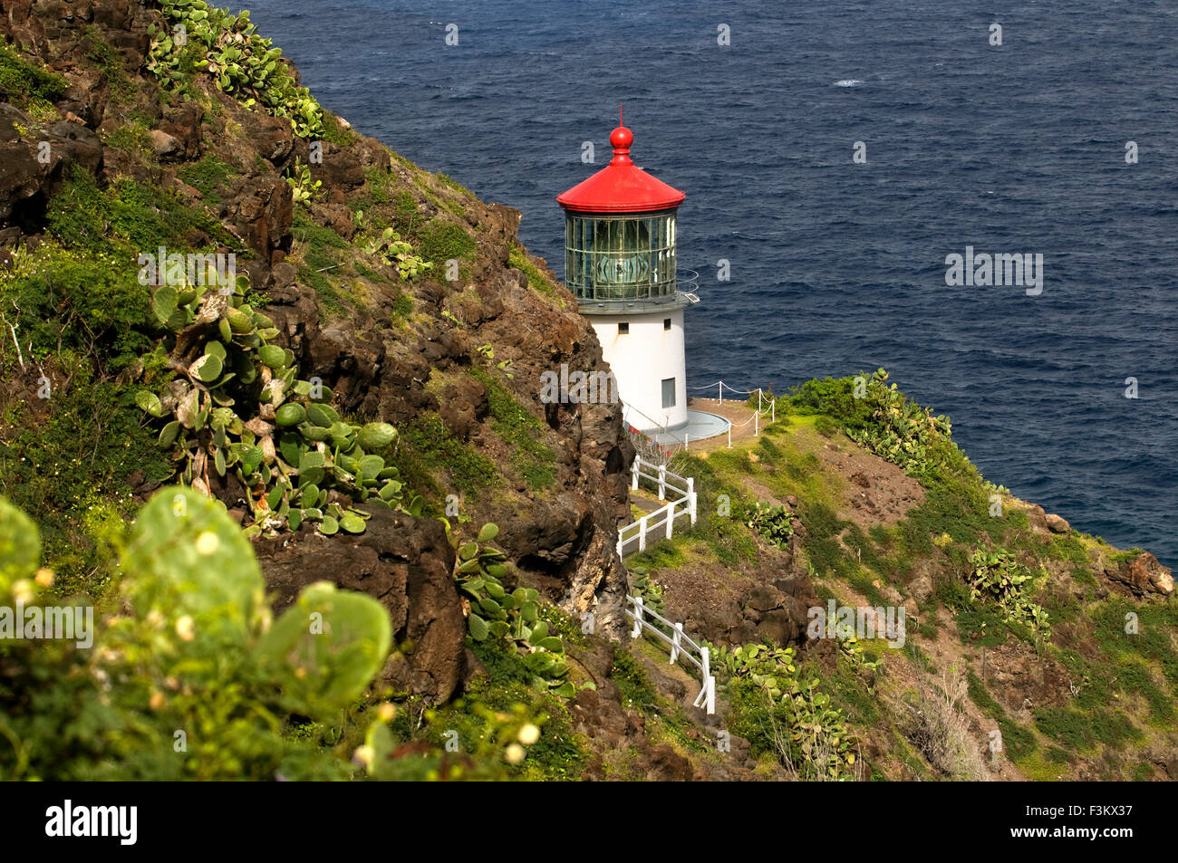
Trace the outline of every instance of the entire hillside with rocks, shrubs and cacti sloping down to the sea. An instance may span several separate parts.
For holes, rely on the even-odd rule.
[[[517,211],[324,111],[244,13],[0,0],[0,496],[44,546],[40,586],[9,584],[0,533],[0,595],[93,602],[104,645],[2,645],[4,776],[1178,777],[1169,570],[984,483],[881,378],[676,457],[703,517],[628,584],[634,446],[617,405],[541,401],[543,372],[604,364]],[[177,284],[173,254],[200,255]],[[380,603],[362,697],[263,710],[247,676],[168,664],[201,639],[132,600],[127,525],[174,483],[250,539],[263,640],[318,583]],[[626,637],[628,590],[710,642],[717,716]],[[905,646],[813,637],[830,599],[902,608]],[[164,640],[128,649],[132,620]],[[118,709],[70,689],[92,678]],[[207,704],[231,757],[143,755]],[[496,733],[532,721],[522,762]]]

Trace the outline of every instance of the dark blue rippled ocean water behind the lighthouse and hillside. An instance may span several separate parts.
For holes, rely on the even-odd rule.
[[[522,210],[524,243],[557,272],[554,198],[605,164],[624,101],[636,164],[687,192],[689,384],[781,392],[885,366],[952,416],[986,477],[1178,564],[1172,0],[253,11],[324,105]],[[1041,253],[1043,293],[947,287],[945,257],[966,245]]]

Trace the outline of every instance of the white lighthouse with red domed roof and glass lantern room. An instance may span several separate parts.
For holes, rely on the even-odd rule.
[[[674,437],[688,424],[683,310],[675,221],[686,195],[630,159],[634,134],[609,135],[614,158],[557,195],[564,210],[564,283],[593,323],[617,380],[624,419]]]

